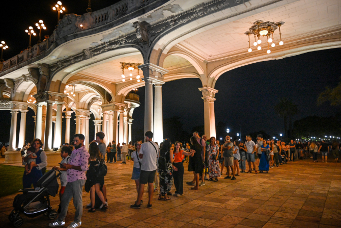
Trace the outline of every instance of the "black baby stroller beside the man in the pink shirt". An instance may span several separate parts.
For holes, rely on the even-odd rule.
[[[59,170],[58,170],[59,171]],[[13,210],[8,216],[9,220],[15,227],[19,227],[23,223],[23,219],[19,215],[23,213],[27,217],[36,217],[45,214],[49,219],[55,219],[58,213],[52,210],[49,196],[55,196],[58,192],[59,184],[54,169],[46,172],[37,182],[37,188],[20,189],[13,201]]]

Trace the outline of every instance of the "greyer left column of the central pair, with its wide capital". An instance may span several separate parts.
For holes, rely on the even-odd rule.
[[[168,70],[152,63],[139,65],[138,68],[143,70],[145,81],[145,132],[154,131],[152,84],[163,84],[163,75],[168,73]]]

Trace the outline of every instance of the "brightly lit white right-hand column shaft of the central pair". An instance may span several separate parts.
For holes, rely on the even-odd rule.
[[[155,89],[155,108],[154,108],[154,141],[163,141],[163,115],[162,115],[162,84],[156,83]]]

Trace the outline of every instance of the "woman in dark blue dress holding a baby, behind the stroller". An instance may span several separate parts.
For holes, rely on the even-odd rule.
[[[23,158],[23,161],[27,163],[22,176],[23,188],[31,188],[32,184],[36,188],[37,181],[43,176],[41,169],[47,166],[47,156],[41,149],[42,147],[41,140],[34,139],[31,147],[27,149],[27,156]]]

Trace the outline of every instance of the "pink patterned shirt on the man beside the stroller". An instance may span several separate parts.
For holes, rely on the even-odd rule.
[[[82,171],[75,169],[68,169],[68,182],[74,182],[77,180],[87,180],[86,171],[89,169],[89,152],[82,146],[78,149],[74,149],[71,153],[68,164],[74,166],[80,166]]]

